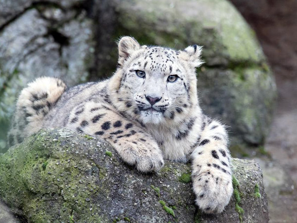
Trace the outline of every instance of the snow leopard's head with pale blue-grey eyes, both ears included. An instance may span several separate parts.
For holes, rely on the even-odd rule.
[[[175,51],[141,47],[130,37],[122,38],[116,73],[121,73],[117,91],[125,111],[144,124],[181,121],[197,103],[199,55],[197,46]]]

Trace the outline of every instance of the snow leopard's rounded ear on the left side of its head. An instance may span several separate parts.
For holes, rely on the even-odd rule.
[[[119,40],[118,48],[119,48],[118,65],[121,66],[123,62],[127,60],[134,51],[140,49],[140,45],[133,37],[124,36]]]

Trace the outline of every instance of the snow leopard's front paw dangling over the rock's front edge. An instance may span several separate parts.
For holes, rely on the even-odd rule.
[[[193,175],[196,204],[204,213],[221,213],[233,194],[232,176],[210,170]]]

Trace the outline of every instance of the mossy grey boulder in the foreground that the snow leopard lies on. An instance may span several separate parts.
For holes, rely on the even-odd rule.
[[[0,156],[0,197],[28,223],[268,223],[260,167],[233,159],[233,171],[226,211],[203,215],[189,164],[166,162],[158,173],[142,174],[103,140],[41,130]]]

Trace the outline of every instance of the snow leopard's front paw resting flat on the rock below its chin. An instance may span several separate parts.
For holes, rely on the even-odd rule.
[[[158,171],[164,165],[161,150],[149,142],[122,143],[117,151],[124,162],[135,165],[141,172]]]

